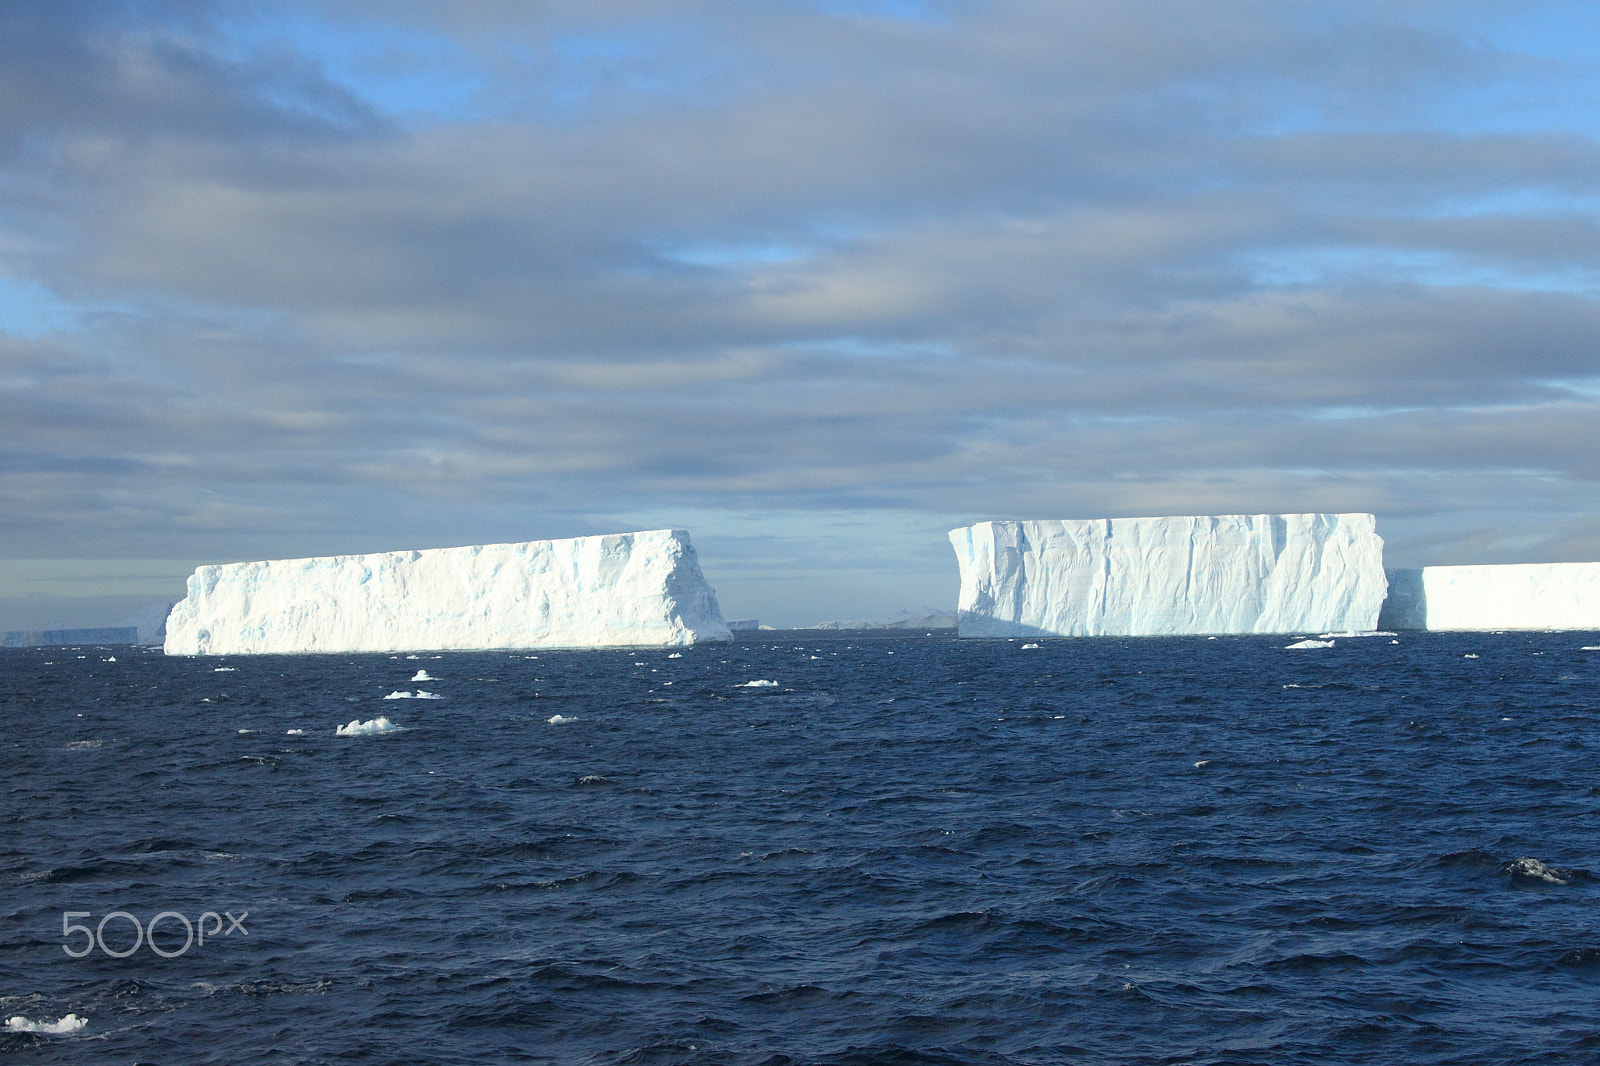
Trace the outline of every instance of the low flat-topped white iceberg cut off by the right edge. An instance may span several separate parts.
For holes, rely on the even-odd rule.
[[[1392,570],[1384,629],[1600,629],[1600,563]]]

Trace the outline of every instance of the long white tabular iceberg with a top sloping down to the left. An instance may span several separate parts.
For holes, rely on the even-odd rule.
[[[168,655],[728,640],[683,530],[200,567]]]

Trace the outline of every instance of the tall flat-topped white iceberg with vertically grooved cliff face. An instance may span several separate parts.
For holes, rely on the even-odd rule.
[[[1370,631],[1370,514],[979,522],[950,531],[963,637]]]

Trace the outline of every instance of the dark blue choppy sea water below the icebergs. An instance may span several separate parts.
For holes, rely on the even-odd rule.
[[[0,1056],[1592,1060],[1600,635],[1395,640],[3,651]]]

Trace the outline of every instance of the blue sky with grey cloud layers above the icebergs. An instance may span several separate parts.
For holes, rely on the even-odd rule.
[[[728,618],[986,519],[1600,560],[1600,8],[0,5],[0,627],[683,527]]]

